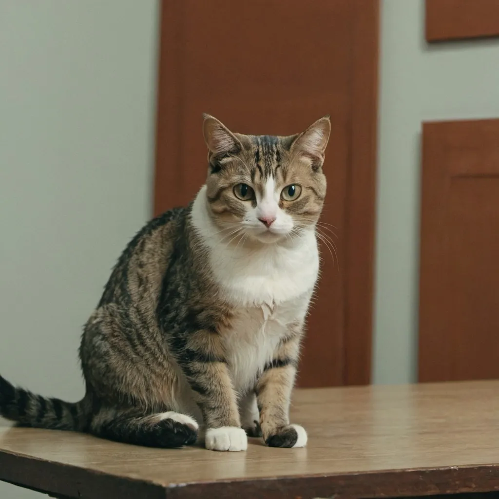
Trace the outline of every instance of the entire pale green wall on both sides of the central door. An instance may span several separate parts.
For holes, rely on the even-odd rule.
[[[0,0],[0,372],[77,400],[81,326],[150,215],[156,0]],[[499,116],[499,41],[382,1],[374,381],[415,378],[422,120]],[[41,498],[0,484],[3,499]]]

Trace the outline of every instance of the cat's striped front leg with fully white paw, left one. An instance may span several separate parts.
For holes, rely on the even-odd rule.
[[[213,451],[246,451],[236,393],[224,348],[215,333],[199,331],[177,354],[205,423],[205,447]]]

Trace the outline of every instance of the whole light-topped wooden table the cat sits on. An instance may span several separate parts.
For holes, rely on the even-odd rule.
[[[296,391],[305,449],[160,450],[2,427],[0,480],[58,497],[402,497],[499,491],[499,382]]]

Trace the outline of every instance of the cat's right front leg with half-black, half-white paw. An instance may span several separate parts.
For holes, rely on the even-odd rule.
[[[301,334],[281,342],[256,384],[260,427],[270,447],[305,447],[303,427],[289,424],[289,405],[296,375]]]

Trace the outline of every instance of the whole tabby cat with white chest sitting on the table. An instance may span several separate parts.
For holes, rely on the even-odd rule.
[[[325,116],[301,134],[243,135],[205,114],[206,183],[119,257],[82,334],[84,398],[44,398],[0,376],[0,414],[150,447],[202,436],[216,451],[244,451],[248,436],[304,447],[289,405],[330,130]]]

